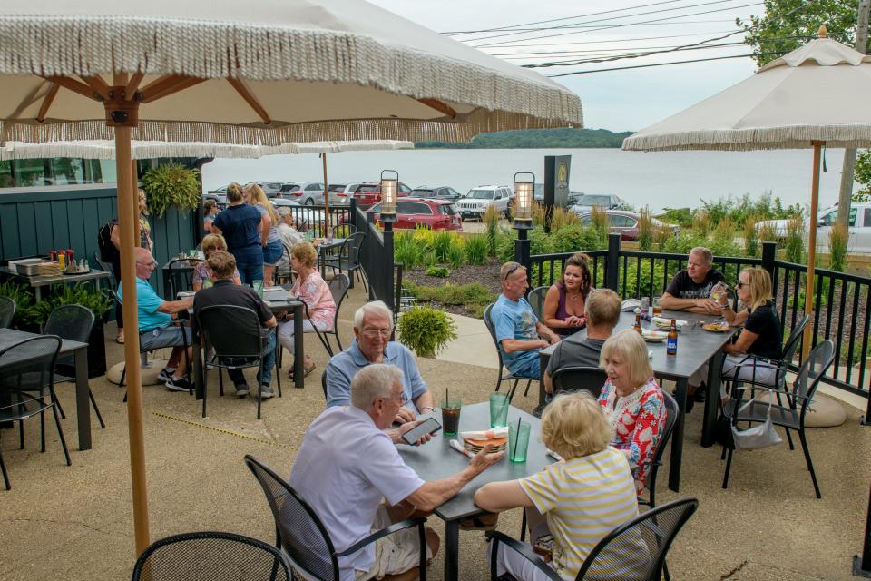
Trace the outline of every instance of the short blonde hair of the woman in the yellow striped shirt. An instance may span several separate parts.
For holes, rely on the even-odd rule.
[[[563,393],[542,415],[544,445],[563,458],[601,452],[611,441],[611,426],[589,391]]]

